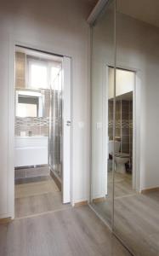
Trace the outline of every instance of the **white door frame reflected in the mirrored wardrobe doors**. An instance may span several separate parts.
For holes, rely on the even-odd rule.
[[[108,125],[108,70],[111,65],[106,64],[106,125]],[[140,153],[140,117],[139,117],[139,109],[140,109],[140,79],[139,74],[140,71],[132,68],[132,67],[123,67],[118,65],[116,69],[125,69],[134,73],[134,85],[133,85],[133,189],[140,192],[140,171],[139,171],[139,153]],[[105,96],[103,95],[105,98]],[[104,102],[104,101],[103,101]],[[105,107],[105,106],[103,106]],[[104,138],[103,138],[104,139]],[[108,130],[106,137],[106,145],[108,152]],[[108,172],[108,170],[107,170]]]

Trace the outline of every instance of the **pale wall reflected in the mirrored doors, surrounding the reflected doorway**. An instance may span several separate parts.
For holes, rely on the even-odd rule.
[[[102,131],[95,130],[97,120],[107,125],[102,118],[105,96],[102,93],[105,81],[105,65],[112,65],[112,37],[110,21],[112,13],[107,11],[94,28],[93,58],[93,194],[101,194],[104,178],[101,170]],[[139,189],[159,187],[158,143],[159,143],[159,28],[126,15],[116,17],[117,55],[116,66],[137,70],[136,93],[138,127],[136,133],[137,160],[139,162]],[[101,194],[102,195],[102,194]]]

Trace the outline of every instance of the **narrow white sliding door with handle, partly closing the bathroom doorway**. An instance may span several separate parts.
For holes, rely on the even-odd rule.
[[[71,201],[71,58],[62,63],[63,97],[63,203]]]

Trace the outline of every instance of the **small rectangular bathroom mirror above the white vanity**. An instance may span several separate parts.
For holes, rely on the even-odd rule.
[[[43,117],[41,91],[16,90],[16,117]]]

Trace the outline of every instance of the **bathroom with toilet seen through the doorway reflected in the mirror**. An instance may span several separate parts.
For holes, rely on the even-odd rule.
[[[108,68],[108,188],[112,183],[114,161],[114,198],[133,193],[133,88],[135,73],[116,68],[116,103],[114,102],[114,69]],[[114,111],[115,108],[115,111]],[[114,117],[115,114],[115,117]],[[113,124],[115,121],[115,129]],[[113,153],[114,152],[114,153]],[[109,189],[108,189],[109,194]]]

